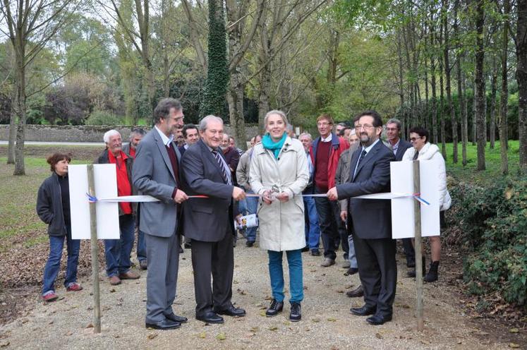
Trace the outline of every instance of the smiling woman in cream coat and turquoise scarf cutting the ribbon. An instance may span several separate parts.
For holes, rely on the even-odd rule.
[[[286,133],[283,111],[269,111],[264,119],[267,133],[254,146],[250,162],[250,186],[262,196],[258,210],[260,248],[269,255],[269,276],[273,300],[267,316],[284,307],[285,251],[289,265],[291,321],[301,320],[303,272],[301,249],[305,247],[302,191],[309,181],[308,160],[300,141]],[[265,203],[265,204],[264,204]]]

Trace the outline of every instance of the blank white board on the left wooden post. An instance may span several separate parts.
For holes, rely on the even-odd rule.
[[[97,198],[117,197],[115,164],[94,164]],[[90,203],[87,200],[87,166],[68,166],[71,208],[71,237],[90,239]],[[119,239],[119,203],[97,202],[97,239]]]

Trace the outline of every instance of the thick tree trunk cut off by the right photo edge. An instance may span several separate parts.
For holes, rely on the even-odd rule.
[[[516,81],[518,81],[520,169],[527,172],[527,0],[518,0],[516,26]]]

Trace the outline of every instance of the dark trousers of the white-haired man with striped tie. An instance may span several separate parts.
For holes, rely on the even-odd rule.
[[[196,316],[212,310],[224,310],[232,305],[233,239],[234,235],[229,228],[222,241],[219,242],[192,240],[190,249],[194,269]],[[211,274],[212,290],[210,288]]]

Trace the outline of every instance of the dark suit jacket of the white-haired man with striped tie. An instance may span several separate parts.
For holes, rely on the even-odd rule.
[[[222,150],[218,148],[221,155]],[[181,183],[190,198],[183,205],[183,231],[190,239],[217,242],[227,230],[233,230],[233,185],[225,183],[214,155],[202,140],[191,145],[181,160]]]

